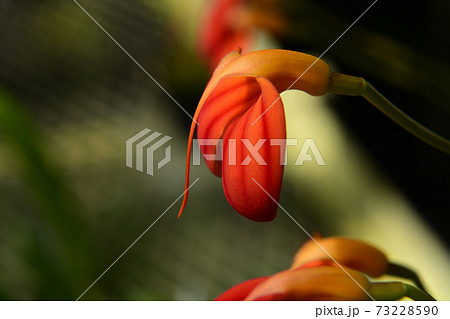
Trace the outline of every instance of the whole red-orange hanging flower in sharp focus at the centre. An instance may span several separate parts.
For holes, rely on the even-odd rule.
[[[286,138],[279,93],[292,88],[315,96],[325,94],[330,74],[328,64],[299,52],[262,50],[241,55],[237,50],[225,56],[194,114],[188,141],[186,189],[198,124],[199,139],[217,140],[213,145],[201,145],[203,155],[214,154],[220,146],[223,149],[223,160],[205,157],[205,161],[215,175],[222,177],[231,206],[253,221],[274,219],[281,192]],[[281,145],[271,145],[274,140]],[[259,161],[252,160],[255,149],[261,156]],[[187,196],[186,191],[178,216]]]

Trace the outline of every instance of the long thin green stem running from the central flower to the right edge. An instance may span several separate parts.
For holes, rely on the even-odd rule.
[[[362,96],[391,120],[425,143],[450,154],[450,141],[419,124],[360,77],[333,73],[328,92],[340,95]]]

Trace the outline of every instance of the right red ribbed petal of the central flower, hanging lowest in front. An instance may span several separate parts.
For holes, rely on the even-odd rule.
[[[247,79],[260,86],[261,94],[225,131],[222,183],[228,202],[241,215],[271,221],[276,217],[284,168],[283,147],[271,144],[285,143],[283,103],[269,80]]]

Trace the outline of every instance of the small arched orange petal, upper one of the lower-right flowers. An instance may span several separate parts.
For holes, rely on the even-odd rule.
[[[331,257],[345,267],[372,277],[384,274],[388,266],[385,254],[362,241],[342,237],[317,238],[316,241],[321,247],[312,240],[306,242],[296,253],[291,269],[311,261],[332,260]]]

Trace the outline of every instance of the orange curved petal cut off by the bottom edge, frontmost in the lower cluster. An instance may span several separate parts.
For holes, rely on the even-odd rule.
[[[346,271],[351,277],[330,266],[283,271],[258,285],[245,300],[368,300],[367,278],[357,271]]]

